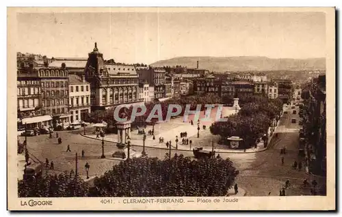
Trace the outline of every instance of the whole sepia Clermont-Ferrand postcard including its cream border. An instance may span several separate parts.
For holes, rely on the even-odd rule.
[[[7,106],[10,210],[336,209],[335,8],[8,8]]]

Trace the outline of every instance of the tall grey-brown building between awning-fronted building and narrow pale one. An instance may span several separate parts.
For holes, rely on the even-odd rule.
[[[42,111],[52,115],[53,126],[63,126],[70,122],[69,76],[68,70],[62,68],[37,68],[40,78]]]

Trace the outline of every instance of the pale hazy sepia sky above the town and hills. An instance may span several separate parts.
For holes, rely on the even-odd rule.
[[[322,12],[17,14],[17,52],[146,63],[187,56],[326,56]]]

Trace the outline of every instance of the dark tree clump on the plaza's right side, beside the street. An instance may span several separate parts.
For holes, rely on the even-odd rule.
[[[226,142],[230,136],[244,139],[241,148],[249,148],[272,126],[273,119],[279,119],[282,110],[280,100],[272,100],[262,96],[246,96],[240,98],[241,110],[227,117],[227,121],[215,122],[211,125],[212,134],[222,136]]]

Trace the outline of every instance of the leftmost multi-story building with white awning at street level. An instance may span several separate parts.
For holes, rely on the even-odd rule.
[[[18,129],[51,126],[52,117],[42,111],[40,78],[31,63],[29,68],[17,70]]]

